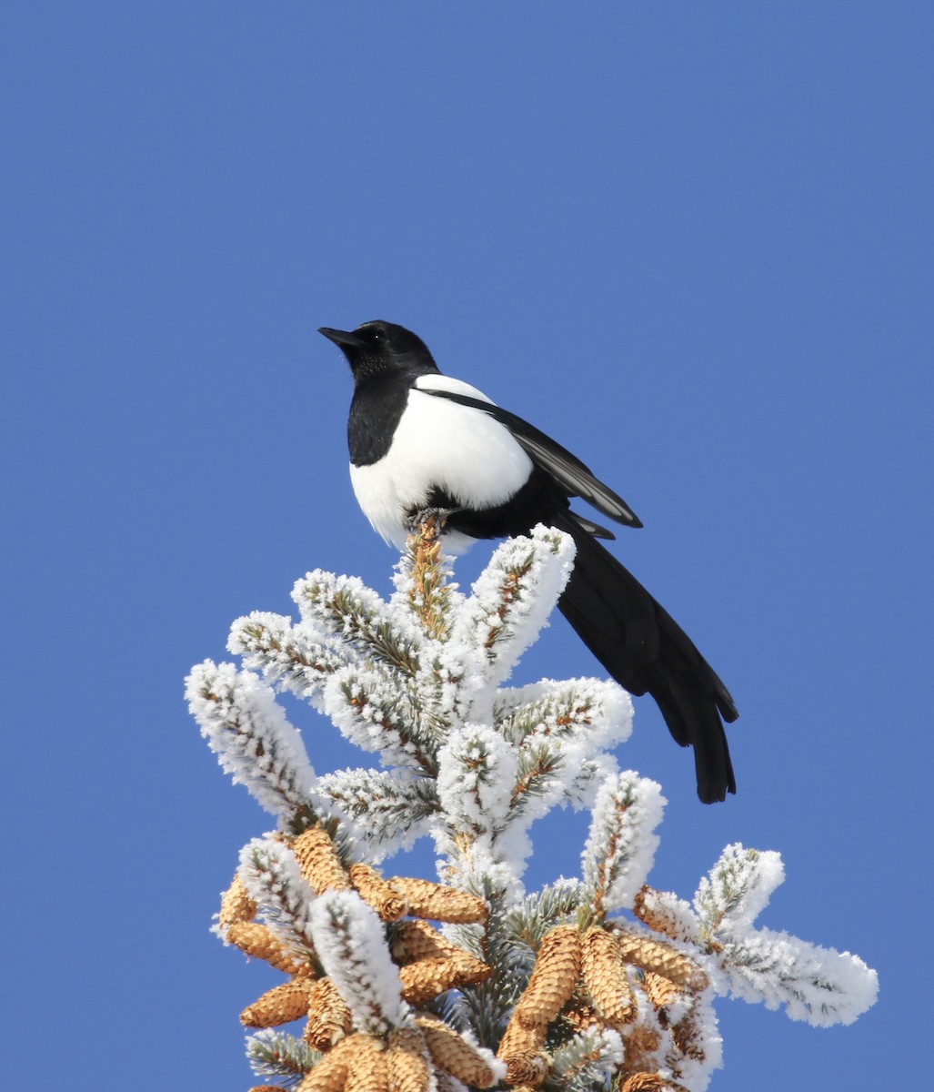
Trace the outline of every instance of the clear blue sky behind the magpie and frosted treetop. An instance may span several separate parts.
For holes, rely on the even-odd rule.
[[[931,7],[34,0],[2,24],[4,1083],[251,1083],[237,1012],[270,983],[207,926],[271,822],[182,678],[308,569],[388,587],[315,333],[372,318],[625,497],[646,529],[619,556],[735,696],[739,795],[710,808],[636,703],[657,886],[779,850],[764,924],[879,971],[851,1028],[720,1002],[713,1088],[923,1083]],[[519,679],[595,670],[556,618]],[[356,760],[301,723],[316,768]],[[546,838],[532,881],[576,868],[583,827]]]

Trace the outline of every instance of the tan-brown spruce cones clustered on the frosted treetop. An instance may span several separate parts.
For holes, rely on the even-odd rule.
[[[464,1084],[489,1089],[505,1081],[515,1092],[535,1092],[550,1073],[546,1041],[556,1022],[570,1032],[610,1028],[623,1036],[625,1061],[613,1084],[620,1092],[679,1090],[656,1071],[650,1056],[658,1049],[657,1028],[670,1032],[678,1048],[691,1056],[692,996],[708,985],[703,970],[663,940],[616,925],[558,925],[542,938],[531,977],[516,1002],[496,1049],[479,1047],[433,1013],[429,1001],[448,989],[483,982],[491,968],[444,937],[430,922],[483,924],[482,899],[456,888],[408,877],[384,879],[373,868],[345,868],[321,827],[288,839],[302,876],[312,890],[355,890],[386,923],[402,996],[414,1009],[410,1026],[378,1036],[354,1028],[350,1009],[311,951],[287,949],[276,934],[253,921],[256,904],[239,877],[221,900],[219,931],[248,956],[265,960],[289,977],[240,1014],[248,1028],[272,1028],[306,1019],[306,1043],[316,1060],[301,1076],[296,1092],[456,1092]],[[658,931],[650,900],[637,899],[635,911]],[[654,1019],[637,1022],[638,1002],[630,970]],[[669,1026],[667,1013],[681,1013]],[[696,1057],[696,1054],[694,1055]],[[452,1080],[453,1078],[453,1080]],[[458,1083],[459,1082],[459,1083]],[[259,1085],[251,1092],[282,1092]]]

